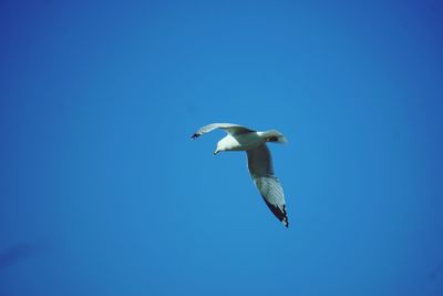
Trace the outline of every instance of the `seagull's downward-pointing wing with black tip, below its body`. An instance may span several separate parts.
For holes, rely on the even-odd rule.
[[[248,150],[248,169],[261,197],[274,215],[288,227],[288,214],[284,190],[278,178],[274,175],[272,159],[269,149],[262,144]]]

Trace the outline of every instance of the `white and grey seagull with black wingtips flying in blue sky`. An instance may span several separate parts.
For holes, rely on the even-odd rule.
[[[249,174],[274,215],[289,226],[284,190],[274,175],[272,159],[267,142],[287,143],[285,135],[276,130],[258,132],[234,123],[212,123],[200,127],[192,136],[193,140],[216,129],[224,130],[227,135],[217,143],[214,155],[223,151],[246,151]]]

